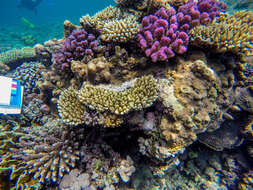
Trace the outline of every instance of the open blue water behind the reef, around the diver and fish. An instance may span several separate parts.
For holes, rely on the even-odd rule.
[[[81,16],[93,15],[113,0],[42,0],[34,9],[18,7],[21,0],[0,0],[0,52],[62,38],[64,20],[79,24]],[[35,27],[22,23],[25,18]]]

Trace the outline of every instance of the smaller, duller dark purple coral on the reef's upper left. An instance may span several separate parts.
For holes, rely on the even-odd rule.
[[[72,60],[83,60],[87,56],[94,56],[98,48],[98,41],[93,34],[88,34],[84,29],[74,30],[68,36],[60,52],[54,56],[57,68],[63,71],[70,68]]]

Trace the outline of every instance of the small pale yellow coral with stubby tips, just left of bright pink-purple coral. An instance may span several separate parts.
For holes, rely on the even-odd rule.
[[[139,28],[137,17],[130,15],[120,20],[107,22],[103,27],[101,39],[106,42],[127,42],[136,37]]]

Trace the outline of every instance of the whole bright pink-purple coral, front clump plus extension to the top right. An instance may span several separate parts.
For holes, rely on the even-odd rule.
[[[139,44],[153,62],[168,60],[175,53],[183,54],[187,51],[189,30],[210,22],[224,9],[225,5],[217,0],[190,0],[178,11],[161,8],[155,15],[143,18]]]

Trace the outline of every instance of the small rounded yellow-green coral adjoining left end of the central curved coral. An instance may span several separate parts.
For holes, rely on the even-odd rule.
[[[85,106],[77,98],[78,91],[73,88],[64,90],[57,102],[61,119],[66,124],[78,125],[84,123]]]

